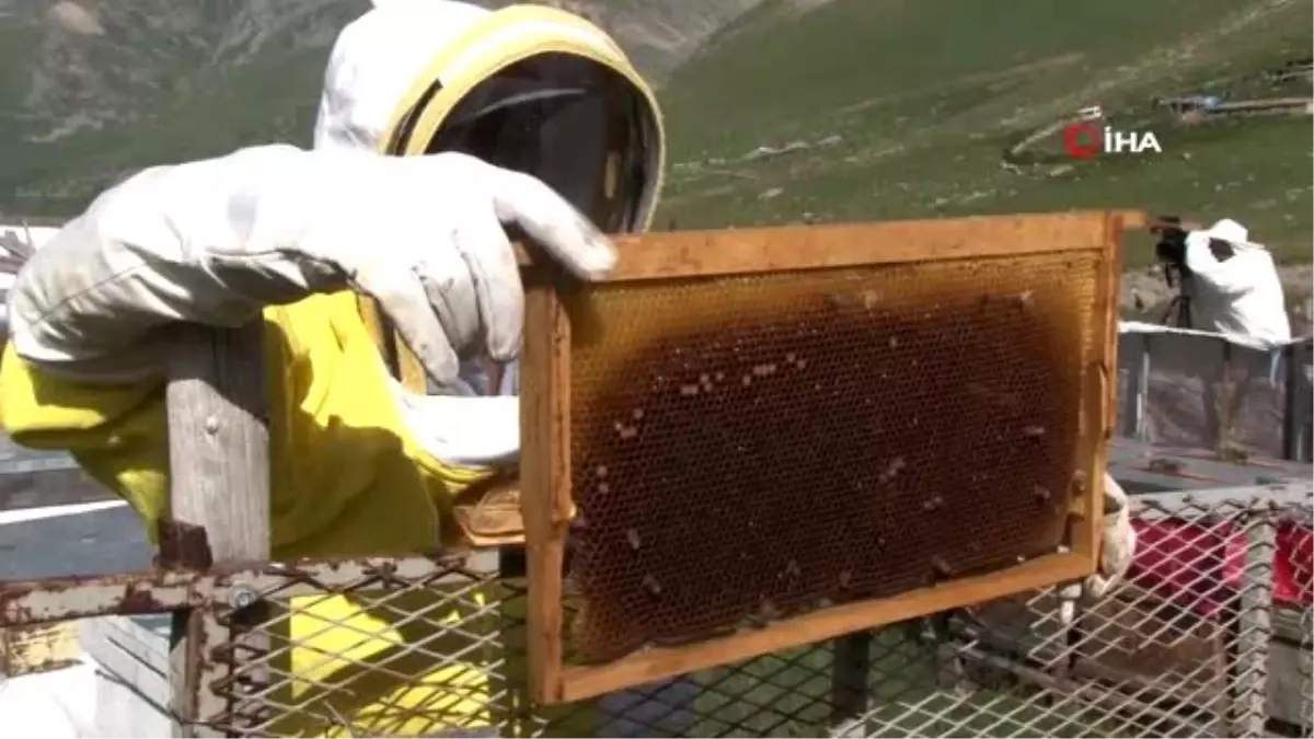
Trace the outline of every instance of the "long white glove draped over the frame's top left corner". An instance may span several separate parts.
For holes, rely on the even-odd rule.
[[[440,388],[459,358],[515,358],[524,293],[502,225],[582,279],[612,245],[545,184],[463,154],[380,156],[272,145],[146,170],[106,191],[18,274],[26,360],[75,377],[158,373],[155,330],[239,326],[347,287],[376,297]]]

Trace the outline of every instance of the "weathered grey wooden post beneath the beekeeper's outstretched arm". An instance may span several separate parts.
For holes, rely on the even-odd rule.
[[[168,360],[170,518],[160,527],[166,567],[269,559],[269,435],[264,405],[264,323],[240,329],[177,326]],[[243,609],[259,621],[259,604]],[[188,725],[234,706],[206,685],[223,671],[202,661],[225,634],[213,615],[179,614],[173,625],[175,736],[213,736]],[[200,643],[197,643],[200,642]],[[260,644],[244,644],[251,654]],[[256,680],[256,684],[260,681]]]

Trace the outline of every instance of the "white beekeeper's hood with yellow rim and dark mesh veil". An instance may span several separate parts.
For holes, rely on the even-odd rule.
[[[648,84],[583,18],[376,0],[334,46],[315,147],[464,151],[537,176],[615,233],[652,220],[664,135]]]

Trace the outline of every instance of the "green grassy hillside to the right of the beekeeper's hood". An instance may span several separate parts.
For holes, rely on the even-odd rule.
[[[665,89],[679,227],[1134,206],[1247,222],[1314,255],[1314,116],[1185,128],[1152,100],[1314,96],[1259,71],[1314,55],[1314,0],[767,1]],[[1085,105],[1163,155],[1005,167]],[[812,146],[745,160],[762,145]],[[819,145],[820,143],[820,145]]]

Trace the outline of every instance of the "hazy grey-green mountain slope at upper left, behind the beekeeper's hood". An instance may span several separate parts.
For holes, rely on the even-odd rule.
[[[558,4],[608,28],[660,79],[757,3]],[[0,0],[0,214],[67,216],[147,164],[256,142],[307,143],[328,49],[367,7]]]

